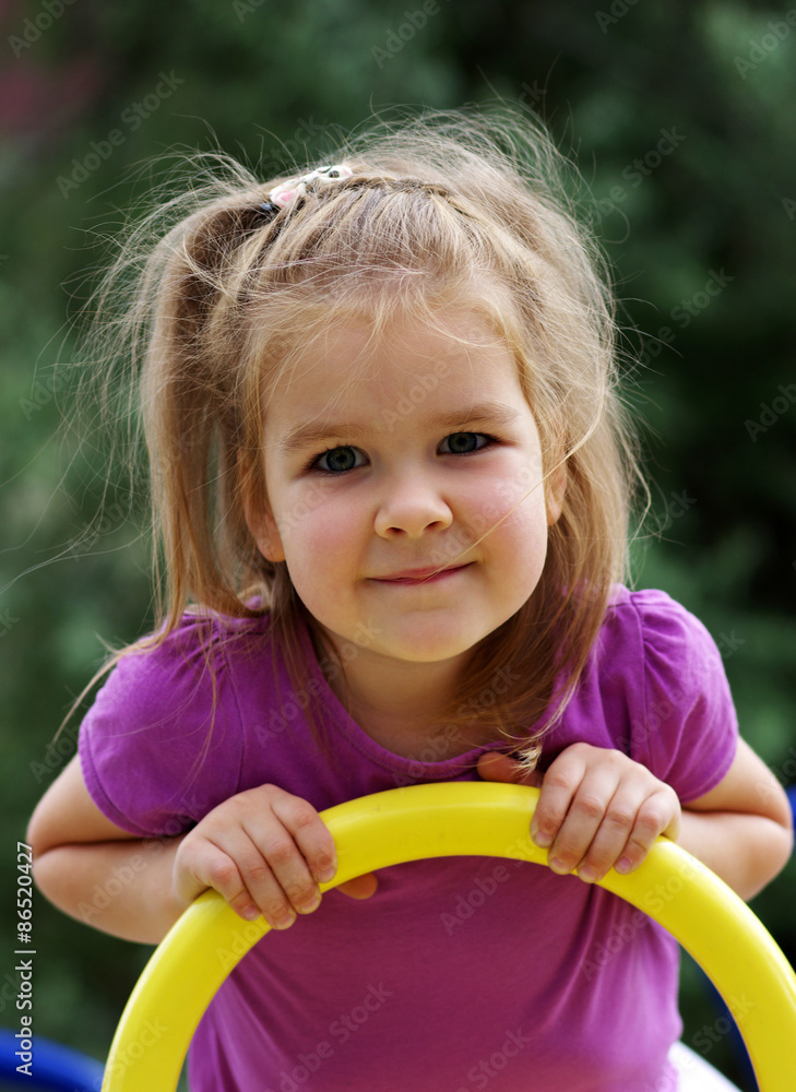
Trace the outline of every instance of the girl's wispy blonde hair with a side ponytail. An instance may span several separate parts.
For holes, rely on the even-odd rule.
[[[466,307],[513,352],[547,478],[565,472],[566,489],[537,589],[472,650],[439,716],[497,725],[532,764],[573,692],[611,585],[626,575],[638,471],[604,262],[568,206],[566,162],[524,115],[403,119],[349,138],[330,161],[351,177],[309,183],[276,215],[263,210],[275,179],[218,157],[223,169],[206,180],[201,163],[203,183],[139,225],[99,294],[100,312],[123,316],[102,329],[134,379],[157,590],[165,574],[157,632],[103,670],[165,640],[193,601],[223,616],[270,612],[300,689],[300,627],[318,638],[317,627],[285,562],[259,553],[245,519],[246,498],[266,502],[268,391],[338,318],[364,316],[376,337],[396,314],[437,322]],[[496,701],[507,666],[514,681]]]

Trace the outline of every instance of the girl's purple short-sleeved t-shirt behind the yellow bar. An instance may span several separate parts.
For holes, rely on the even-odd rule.
[[[393,755],[347,715],[307,630],[306,688],[294,692],[266,617],[213,626],[206,750],[212,690],[191,616],[156,651],[122,660],[82,725],[88,791],[124,830],[176,834],[263,783],[320,810],[397,785],[476,781],[478,756],[495,749]],[[310,695],[331,760],[304,714]],[[618,589],[542,765],[578,740],[619,748],[687,803],[722,780],[736,738],[704,627],[662,592]],[[194,1036],[192,1092],[674,1092],[679,952],[650,918],[525,862],[438,858],[378,876],[372,899],[330,891],[245,957]]]

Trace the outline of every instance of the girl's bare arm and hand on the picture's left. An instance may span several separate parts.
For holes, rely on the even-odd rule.
[[[67,914],[106,933],[158,943],[214,888],[243,918],[286,928],[332,878],[332,835],[306,800],[261,785],[230,797],[177,838],[140,839],[106,819],[75,757],[36,808],[27,834],[36,883]],[[369,898],[376,878],[338,890]]]

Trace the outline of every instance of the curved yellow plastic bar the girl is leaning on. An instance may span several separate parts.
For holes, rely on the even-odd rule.
[[[528,836],[538,790],[490,782],[411,785],[330,808],[337,847],[332,883],[427,857],[511,857],[547,864]],[[796,975],[749,907],[665,839],[629,876],[602,886],[663,925],[691,953],[735,1018],[760,1092],[793,1092]],[[300,923],[299,923],[300,927]],[[182,915],[143,971],[108,1056],[103,1092],[174,1092],[191,1037],[237,962],[269,931],[247,924],[214,891]]]

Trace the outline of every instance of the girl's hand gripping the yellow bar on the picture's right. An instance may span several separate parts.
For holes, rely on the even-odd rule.
[[[680,802],[674,788],[621,751],[572,744],[544,773],[523,774],[508,755],[489,751],[478,760],[485,781],[508,781],[540,788],[531,836],[548,848],[548,863],[561,875],[577,870],[587,882],[615,868],[630,873],[658,834],[677,841]]]

